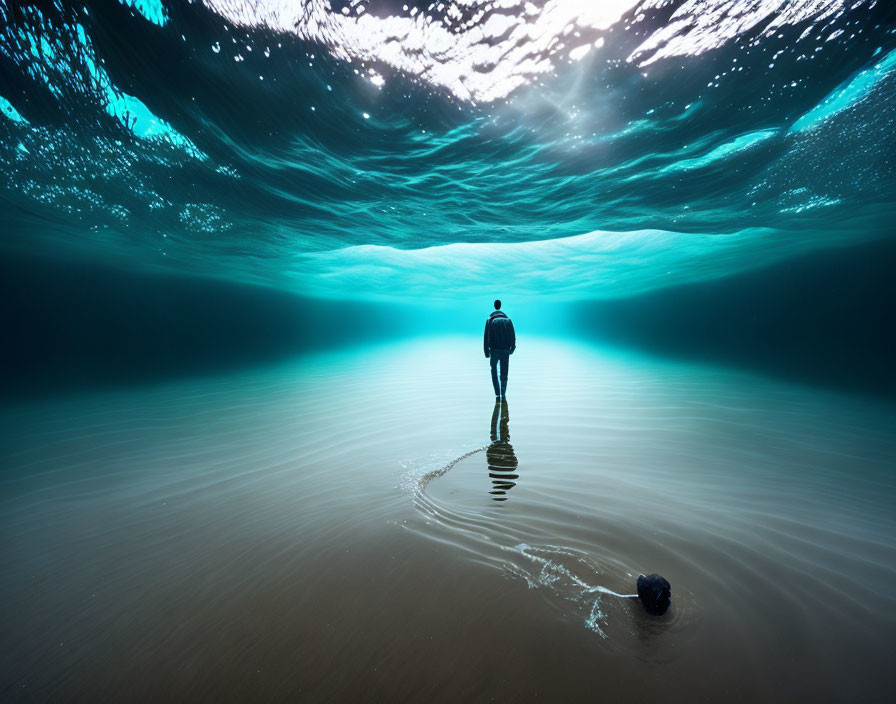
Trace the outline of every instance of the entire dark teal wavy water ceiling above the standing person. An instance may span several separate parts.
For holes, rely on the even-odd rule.
[[[891,237],[875,0],[0,0],[6,251],[612,299]]]

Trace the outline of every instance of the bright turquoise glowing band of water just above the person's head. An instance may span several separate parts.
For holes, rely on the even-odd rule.
[[[597,231],[411,250],[360,245],[297,257],[291,280],[281,285],[321,298],[362,300],[612,298],[770,264],[817,246],[820,237],[751,228],[729,235]]]

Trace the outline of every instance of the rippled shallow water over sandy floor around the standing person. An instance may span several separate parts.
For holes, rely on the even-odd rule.
[[[495,447],[479,354],[5,408],[3,699],[885,700],[892,405],[545,339]]]

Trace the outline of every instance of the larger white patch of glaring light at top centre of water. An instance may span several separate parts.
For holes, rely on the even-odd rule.
[[[321,0],[205,4],[234,24],[296,33],[324,42],[337,58],[382,61],[459,98],[489,102],[552,71],[559,60],[582,58],[592,40],[581,32],[609,28],[637,0],[551,0],[541,8],[473,0],[440,4],[445,9],[438,17],[416,8],[379,17],[363,3],[335,12]]]

